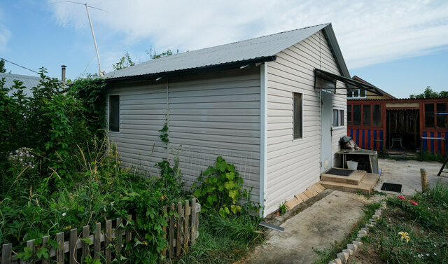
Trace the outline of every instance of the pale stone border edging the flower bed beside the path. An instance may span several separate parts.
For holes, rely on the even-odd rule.
[[[377,219],[381,216],[381,210],[384,208],[386,208],[386,202],[381,202],[381,208],[375,210],[375,213],[372,218],[370,218],[369,223],[366,223],[365,227],[358,231],[358,237],[356,237],[355,241],[347,244],[347,248],[343,249],[342,252],[337,253],[337,258],[331,260],[328,264],[349,263],[349,256],[358,251],[360,246],[363,244],[363,242],[361,242],[361,238],[365,237],[370,228],[373,228],[373,226],[377,224]]]

